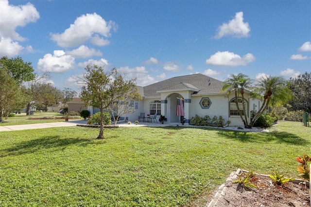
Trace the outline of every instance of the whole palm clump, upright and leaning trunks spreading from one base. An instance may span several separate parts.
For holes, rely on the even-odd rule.
[[[245,89],[250,90],[252,97],[260,97],[263,99],[261,107],[251,118],[250,123],[248,123],[245,103],[243,102]],[[268,106],[285,104],[292,98],[291,90],[286,86],[285,79],[281,77],[266,76],[257,81],[257,84],[252,84],[252,80],[248,78],[248,76],[241,73],[238,75],[232,74],[231,77],[225,80],[222,91],[227,91],[227,94],[229,94],[232,90],[235,92],[236,100],[238,100],[240,95],[242,96],[243,112],[237,102],[236,106],[245,128],[252,128],[254,123],[267,110]]]

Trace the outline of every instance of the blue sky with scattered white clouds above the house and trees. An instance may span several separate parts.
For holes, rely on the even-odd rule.
[[[59,89],[88,63],[146,86],[202,73],[311,72],[310,0],[0,0],[0,57],[20,56]]]

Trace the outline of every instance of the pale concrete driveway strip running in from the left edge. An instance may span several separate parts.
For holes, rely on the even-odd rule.
[[[86,124],[86,122],[87,120],[0,126],[0,132],[17,131],[25,129],[43,129],[43,128],[62,127],[62,126],[76,126],[77,124]]]

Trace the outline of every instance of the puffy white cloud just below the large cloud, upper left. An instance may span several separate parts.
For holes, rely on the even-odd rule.
[[[37,68],[42,72],[62,73],[74,66],[74,57],[65,54],[64,51],[54,51],[53,55],[45,54],[39,59]]]

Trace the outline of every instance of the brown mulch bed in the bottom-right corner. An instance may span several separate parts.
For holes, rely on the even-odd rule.
[[[310,207],[309,184],[287,182],[277,186],[263,175],[257,175],[251,183],[258,188],[239,190],[238,184],[226,182],[225,193],[217,202],[217,207]]]

